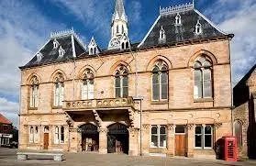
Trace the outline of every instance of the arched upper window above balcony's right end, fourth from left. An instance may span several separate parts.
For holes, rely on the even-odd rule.
[[[120,65],[115,74],[116,97],[128,97],[128,69]]]

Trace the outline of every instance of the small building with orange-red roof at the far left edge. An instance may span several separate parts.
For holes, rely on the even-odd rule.
[[[0,114],[0,146],[9,146],[10,139],[13,138],[12,123],[2,114]]]

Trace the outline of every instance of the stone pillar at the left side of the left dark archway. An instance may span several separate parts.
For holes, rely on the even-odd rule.
[[[70,151],[78,152],[79,146],[81,143],[79,142],[80,133],[78,132],[78,128],[72,127],[70,128]]]

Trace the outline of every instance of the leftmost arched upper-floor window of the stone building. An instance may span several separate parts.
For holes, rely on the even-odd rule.
[[[30,86],[30,105],[31,108],[37,108],[39,106],[39,79],[37,76],[33,76]]]

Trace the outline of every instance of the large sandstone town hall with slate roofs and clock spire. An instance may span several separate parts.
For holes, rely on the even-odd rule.
[[[232,38],[185,4],[131,43],[122,0],[106,49],[51,34],[20,67],[19,148],[215,158],[232,133]]]

